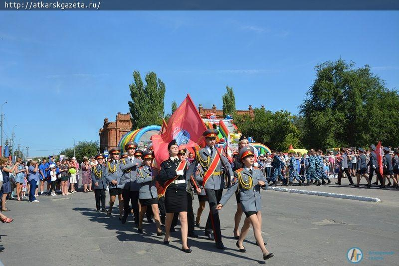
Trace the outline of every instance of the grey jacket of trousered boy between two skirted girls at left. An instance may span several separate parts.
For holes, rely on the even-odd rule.
[[[130,191],[139,191],[140,185],[137,183],[137,170],[141,166],[141,160],[134,158],[130,162],[129,157],[121,159],[119,168],[123,172],[119,187]]]

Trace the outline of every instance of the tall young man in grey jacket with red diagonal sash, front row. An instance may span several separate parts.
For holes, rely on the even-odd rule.
[[[216,242],[216,248],[224,250],[225,247],[221,240],[219,213],[216,209],[216,206],[221,199],[224,188],[223,170],[227,171],[230,181],[233,179],[233,171],[227,158],[223,155],[220,155],[215,147],[216,136],[218,134],[219,131],[214,128],[205,130],[203,132],[202,136],[205,137],[206,146],[205,148],[202,148],[196,152],[196,161],[194,161],[193,166],[200,163],[204,171],[203,179],[200,181],[204,183],[204,189],[206,195],[208,196],[210,209],[208,219],[206,221],[205,234],[208,239],[211,239],[212,235],[210,228],[212,228],[213,238]]]

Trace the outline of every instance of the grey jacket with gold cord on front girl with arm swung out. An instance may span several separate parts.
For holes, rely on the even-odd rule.
[[[235,181],[234,185],[228,188],[227,192],[223,195],[219,203],[223,206],[226,205],[228,199],[230,199],[230,197],[233,196],[234,192],[238,190],[238,193],[240,194],[240,204],[242,207],[242,211],[244,212],[260,211],[262,207],[261,203],[262,197],[260,195],[260,189],[263,190],[267,189],[267,181],[262,173],[262,170],[260,170],[257,167],[252,167],[252,188],[250,189],[245,189],[241,187],[240,182],[238,181],[238,173],[241,174],[243,182],[246,184],[248,183],[249,177],[251,176],[249,172],[245,168],[236,170],[234,172],[234,180],[233,180]],[[259,181],[264,181],[265,186],[263,187],[259,186],[258,185]]]

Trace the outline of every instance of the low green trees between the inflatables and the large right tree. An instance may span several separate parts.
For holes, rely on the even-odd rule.
[[[253,112],[253,119],[249,115],[236,115],[234,118],[242,134],[252,136],[273,150],[285,152],[290,144],[299,146],[299,131],[293,124],[295,117],[291,113],[284,110],[273,113],[264,108],[255,108]]]

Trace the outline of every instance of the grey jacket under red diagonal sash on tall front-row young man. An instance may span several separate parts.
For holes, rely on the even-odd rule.
[[[215,148],[213,148],[213,149],[215,149]],[[204,160],[204,161],[206,161],[208,159],[208,157],[210,157],[207,148],[201,149],[199,154],[200,154],[201,159]],[[217,152],[214,150],[213,153],[212,153],[212,159],[210,161],[212,161],[213,158],[215,158],[216,154],[217,154]],[[227,169],[224,169],[224,170],[228,172],[229,177],[233,176],[233,170],[231,169],[231,165],[230,165],[230,163],[228,162],[227,158],[224,155],[221,155],[220,162],[216,166],[216,169],[215,169],[214,173],[223,172],[223,169],[222,169],[223,165],[222,165],[221,160],[223,160],[224,164],[227,167]],[[199,159],[196,158],[196,160],[192,163],[192,166],[196,166],[198,163],[199,163]],[[203,171],[206,172],[208,170],[208,167],[209,167],[209,165],[205,166],[203,168]],[[192,168],[192,171],[191,171],[191,174],[192,174],[193,170],[194,170],[194,167],[190,167],[190,168]],[[206,181],[206,184],[205,184],[205,189],[219,190],[219,189],[223,189],[223,188],[224,188],[223,173],[211,175],[208,178],[208,180]]]

